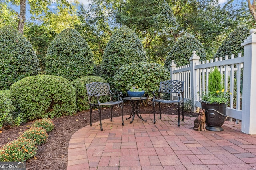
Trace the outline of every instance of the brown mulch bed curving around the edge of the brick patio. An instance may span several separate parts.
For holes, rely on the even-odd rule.
[[[162,114],[178,114],[175,104],[161,104]],[[131,107],[129,102],[124,102],[124,115],[130,115]],[[141,113],[153,113],[152,104],[148,106],[141,105]],[[157,113],[158,106],[156,107]],[[110,108],[104,108],[102,111],[102,120],[110,118]],[[115,107],[113,117],[120,116],[120,108]],[[197,113],[185,111],[185,115],[196,116]],[[124,116],[126,121],[127,116]],[[53,131],[49,132],[48,141],[38,147],[38,152],[34,158],[26,161],[26,170],[64,170],[68,163],[68,144],[72,135],[84,126],[90,123],[90,111],[82,111],[74,116],[63,116],[54,118],[55,124]],[[92,113],[92,123],[99,121],[98,111]],[[19,127],[6,127],[0,133],[0,147],[16,139],[22,132],[30,128],[33,121],[24,123]]]

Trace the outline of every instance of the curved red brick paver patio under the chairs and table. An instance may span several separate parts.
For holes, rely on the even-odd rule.
[[[128,117],[128,116],[124,116]],[[224,131],[194,131],[195,117],[162,115],[153,124],[135,117],[102,120],[78,130],[70,139],[67,170],[255,170],[256,135],[226,121]]]

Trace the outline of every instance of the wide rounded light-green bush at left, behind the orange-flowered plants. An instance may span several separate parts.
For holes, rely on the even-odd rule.
[[[76,112],[76,92],[66,78],[30,76],[12,84],[10,90],[12,102],[25,121]]]

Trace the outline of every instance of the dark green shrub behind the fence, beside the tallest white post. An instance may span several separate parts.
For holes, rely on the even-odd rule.
[[[225,57],[226,55],[237,55],[238,53],[244,54],[244,47],[241,43],[249,36],[249,29],[246,26],[239,26],[232,31],[218,48],[214,57]]]

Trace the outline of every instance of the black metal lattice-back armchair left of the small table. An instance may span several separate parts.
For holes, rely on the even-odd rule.
[[[100,130],[103,131],[102,123],[101,123],[101,106],[111,106],[111,118],[112,121],[112,112],[114,105],[118,104],[122,110],[122,125],[124,125],[123,120],[123,107],[124,102],[122,100],[122,92],[112,93],[110,90],[110,86],[108,83],[102,82],[92,82],[86,84],[86,90],[88,95],[88,100],[90,104],[90,126],[92,126],[92,109],[93,107],[98,108],[98,112],[100,114]],[[113,101],[113,95],[118,94],[118,100]],[[110,101],[108,102],[100,102],[100,96],[109,96]],[[95,100],[96,99],[96,100]]]

